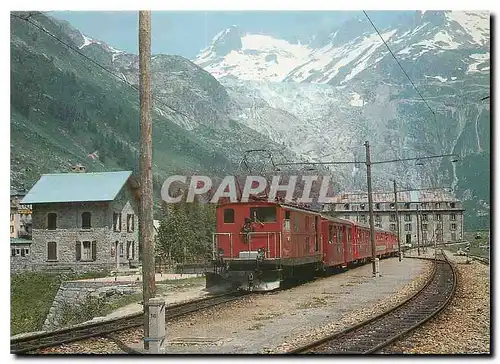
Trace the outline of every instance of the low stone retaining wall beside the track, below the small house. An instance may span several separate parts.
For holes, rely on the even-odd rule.
[[[87,304],[88,297],[109,300],[111,297],[141,292],[142,283],[120,282],[63,282],[50,307],[42,330],[61,328],[64,310],[68,307],[78,309]]]

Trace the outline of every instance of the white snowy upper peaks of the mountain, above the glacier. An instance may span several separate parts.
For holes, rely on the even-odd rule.
[[[429,52],[489,47],[487,12],[420,14],[416,12],[397,28],[381,30],[399,59],[416,60]],[[346,37],[353,34],[353,29],[359,33]],[[232,26],[217,34],[194,62],[216,78],[342,85],[376,66],[388,54],[379,35],[363,19],[342,25],[326,39],[319,46],[315,37],[311,44],[293,44],[269,35],[242,33]],[[489,52],[487,58],[482,57],[489,60]],[[471,70],[476,68],[472,66]]]

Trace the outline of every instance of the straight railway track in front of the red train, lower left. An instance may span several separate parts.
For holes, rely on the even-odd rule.
[[[242,293],[223,294],[167,306],[165,310],[165,321],[222,303],[235,301],[240,299],[243,295]],[[142,326],[144,323],[143,318],[144,315],[138,313],[118,319],[100,321],[12,339],[10,341],[10,352],[12,354],[28,354],[38,349],[80,341],[96,336],[104,336],[113,332]]]

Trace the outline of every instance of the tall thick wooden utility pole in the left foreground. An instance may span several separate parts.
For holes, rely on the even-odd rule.
[[[153,154],[151,122],[151,12],[139,11],[140,192],[139,244],[142,245],[144,349],[149,350],[149,299],[155,296],[153,241]]]

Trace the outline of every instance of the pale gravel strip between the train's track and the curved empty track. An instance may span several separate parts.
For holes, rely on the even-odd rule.
[[[418,290],[431,264],[382,260],[380,278],[371,265],[288,290],[242,300],[180,318],[167,325],[168,354],[282,353],[397,305]],[[141,349],[142,331],[122,335]]]

